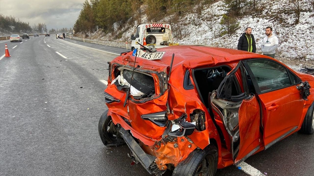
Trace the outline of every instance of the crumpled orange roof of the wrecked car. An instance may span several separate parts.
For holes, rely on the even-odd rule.
[[[175,54],[172,65],[173,69],[178,66],[182,67],[182,65],[184,65],[186,68],[195,68],[216,65],[219,63],[239,61],[248,58],[270,59],[270,57],[252,52],[203,45],[176,45],[159,48],[157,51],[165,51],[162,59],[146,60],[138,57],[136,62],[142,66],[143,69],[161,71],[165,67],[170,66],[173,53]],[[132,55],[132,52],[128,53],[127,55]],[[130,60],[134,62],[134,58],[134,56],[131,56]]]

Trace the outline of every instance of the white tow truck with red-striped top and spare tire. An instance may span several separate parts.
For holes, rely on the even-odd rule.
[[[131,35],[131,40],[132,51],[142,48],[138,43],[145,47],[153,45],[155,48],[177,45],[173,43],[171,26],[167,23],[140,24],[137,26],[135,34]]]

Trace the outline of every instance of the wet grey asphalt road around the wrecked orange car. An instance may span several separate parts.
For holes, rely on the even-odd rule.
[[[101,80],[124,49],[40,36],[1,42],[0,56],[5,43],[11,57],[0,61],[1,176],[149,176],[131,165],[127,146],[107,148],[98,135],[107,108]],[[245,162],[265,175],[312,176],[313,148],[314,135],[295,133]],[[230,166],[216,175],[252,174]]]

